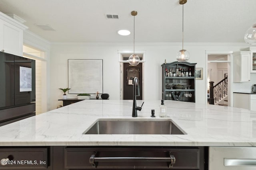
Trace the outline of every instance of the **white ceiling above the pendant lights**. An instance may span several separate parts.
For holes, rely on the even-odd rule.
[[[256,0],[188,0],[184,5],[185,43],[244,43],[256,23]],[[52,42],[182,42],[182,5],[178,0],[0,0],[0,12],[26,20],[29,30]],[[105,14],[118,14],[108,20]],[[44,31],[35,24],[49,24]],[[128,36],[117,34],[128,29]]]

